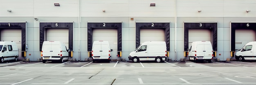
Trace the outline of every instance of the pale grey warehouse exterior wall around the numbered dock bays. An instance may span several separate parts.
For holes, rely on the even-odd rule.
[[[61,6],[54,6],[60,3]],[[155,3],[156,6],[149,6]],[[256,22],[255,0],[177,0],[177,28],[175,28],[175,0],[81,0],[80,55],[88,57],[87,23],[122,22],[122,57],[135,50],[136,22],[170,22],[169,58],[180,61],[184,57],[184,22],[218,22],[217,56],[221,61],[230,57],[230,22]],[[74,22],[72,58],[79,60],[79,0],[2,0],[0,22],[27,22],[27,57],[38,61],[39,23]],[[7,12],[11,10],[12,12]],[[103,12],[105,10],[106,12]],[[200,10],[201,12],[198,12]],[[246,10],[250,12],[247,13]],[[38,18],[36,21],[34,18]],[[130,18],[134,18],[133,21]],[[175,41],[175,29],[177,40]],[[176,51],[175,51],[175,42]],[[177,53],[177,57],[176,56]],[[29,55],[31,54],[31,55]]]

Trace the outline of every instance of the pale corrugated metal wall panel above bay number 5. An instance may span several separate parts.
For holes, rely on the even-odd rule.
[[[60,6],[54,6],[59,3]],[[34,0],[35,17],[78,17],[79,0]]]

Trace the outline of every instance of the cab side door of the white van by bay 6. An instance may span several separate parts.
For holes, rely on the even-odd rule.
[[[244,55],[245,60],[252,60],[252,45],[246,45],[241,52],[242,55]]]

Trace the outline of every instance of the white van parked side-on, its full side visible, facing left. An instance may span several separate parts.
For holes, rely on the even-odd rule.
[[[144,42],[129,55],[132,62],[165,61],[167,57],[166,43],[163,41]]]

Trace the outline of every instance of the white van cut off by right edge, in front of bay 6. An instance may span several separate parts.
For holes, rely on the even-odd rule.
[[[256,60],[256,41],[247,43],[241,50],[236,52],[236,60]]]

